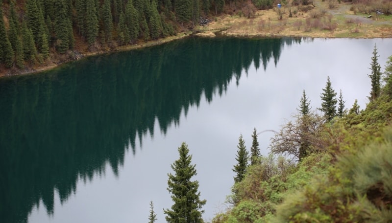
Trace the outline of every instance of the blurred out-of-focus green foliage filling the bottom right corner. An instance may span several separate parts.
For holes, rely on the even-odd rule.
[[[392,221],[392,130],[381,143],[340,157],[278,207],[276,222]]]

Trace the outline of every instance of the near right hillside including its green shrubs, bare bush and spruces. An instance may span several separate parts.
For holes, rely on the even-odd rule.
[[[300,114],[271,139],[270,155],[246,168],[212,223],[392,222],[392,56],[384,75],[376,61],[375,48],[365,110],[338,103],[333,118],[320,117],[304,91]],[[337,99],[323,90],[323,102]],[[329,90],[335,96],[323,98]]]

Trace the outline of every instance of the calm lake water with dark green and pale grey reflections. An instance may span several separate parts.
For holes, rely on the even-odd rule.
[[[370,57],[392,39],[198,39],[101,55],[0,79],[0,222],[157,222],[172,200],[181,142],[196,164],[206,221],[224,211],[238,137],[275,130],[305,89],[330,76],[346,108],[365,108]],[[259,135],[262,154],[270,132]]]

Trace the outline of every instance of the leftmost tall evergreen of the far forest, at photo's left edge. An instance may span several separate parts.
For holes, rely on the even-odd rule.
[[[2,2],[0,2],[0,63],[7,68],[12,67],[13,57],[14,51],[5,31]]]

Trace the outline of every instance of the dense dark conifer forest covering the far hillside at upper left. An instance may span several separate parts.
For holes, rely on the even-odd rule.
[[[235,0],[229,0],[235,2]],[[2,0],[0,71],[175,35],[224,0]],[[235,5],[235,4],[233,4]]]

